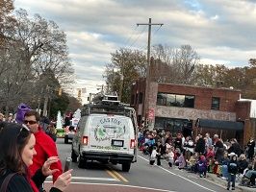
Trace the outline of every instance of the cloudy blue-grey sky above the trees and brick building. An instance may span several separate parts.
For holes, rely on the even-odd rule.
[[[55,21],[67,37],[77,88],[96,93],[111,53],[120,48],[146,54],[148,27],[151,45],[179,48],[189,44],[204,64],[248,66],[256,58],[254,0],[14,0],[15,9]]]

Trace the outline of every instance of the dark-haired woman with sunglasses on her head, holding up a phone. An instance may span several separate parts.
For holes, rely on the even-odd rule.
[[[41,169],[31,177],[28,167],[33,164],[33,156],[37,155],[34,148],[36,144],[34,133],[25,125],[12,123],[0,127],[2,128],[0,129],[0,187],[7,183],[6,189],[0,188],[0,191],[38,192],[38,186],[46,177],[58,171],[50,169],[51,164],[59,160],[58,156],[49,157]],[[50,192],[63,191],[71,181],[71,171],[60,175]]]

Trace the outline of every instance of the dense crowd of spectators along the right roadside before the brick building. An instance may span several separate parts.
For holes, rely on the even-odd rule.
[[[198,174],[200,178],[207,173],[216,174],[227,180],[227,190],[235,190],[235,182],[240,178],[240,184],[256,187],[256,156],[255,140],[250,138],[243,148],[236,138],[223,142],[218,134],[211,137],[206,132],[183,136],[177,132],[175,137],[165,130],[141,130],[138,135],[139,148],[149,156],[151,166],[161,166],[166,160],[169,168],[176,166]]]

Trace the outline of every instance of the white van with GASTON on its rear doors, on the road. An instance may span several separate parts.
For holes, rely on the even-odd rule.
[[[72,161],[76,162],[78,157],[78,167],[81,168],[86,168],[89,160],[119,163],[122,170],[128,172],[131,162],[137,160],[135,119],[116,111],[116,106],[102,108],[101,112],[91,109],[90,112],[87,109],[86,114],[82,112],[72,140]]]

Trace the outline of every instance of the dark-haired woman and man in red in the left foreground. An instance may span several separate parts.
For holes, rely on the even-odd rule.
[[[54,139],[39,126],[39,114],[28,110],[22,123],[0,113],[0,191],[42,192],[44,180],[52,175],[51,192],[60,192],[71,182],[63,173]]]

